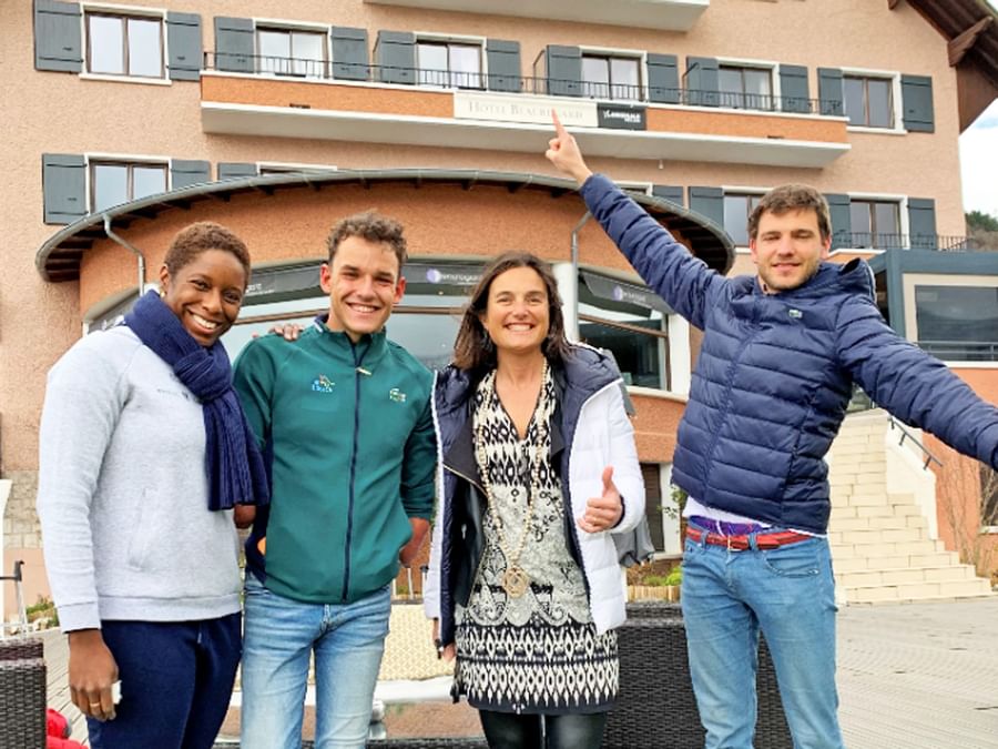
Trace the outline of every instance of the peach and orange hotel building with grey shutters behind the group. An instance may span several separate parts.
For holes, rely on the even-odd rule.
[[[721,273],[773,185],[828,198],[836,257],[868,257],[892,325],[998,402],[998,255],[967,252],[957,139],[998,93],[976,0],[55,2],[4,10],[0,468],[4,568],[44,590],[33,513],[44,375],[218,221],[254,280],[230,353],[307,320],[324,237],[407,226],[389,335],[447,362],[482,263],[556,266],[571,328],[613,351],[637,409],[656,546],[699,335],[650,294],[542,156],[550,111]],[[996,520],[998,522],[998,520]]]

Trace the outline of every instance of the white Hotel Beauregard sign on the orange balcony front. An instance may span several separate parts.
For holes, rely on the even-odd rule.
[[[456,120],[490,120],[492,122],[520,122],[523,124],[551,124],[551,110],[566,125],[597,128],[594,101],[572,101],[567,97],[525,97],[522,94],[454,92]]]

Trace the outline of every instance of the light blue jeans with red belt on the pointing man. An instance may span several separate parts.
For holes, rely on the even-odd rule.
[[[739,551],[686,538],[681,600],[707,749],[752,747],[760,630],[794,747],[842,749],[837,609],[826,539]]]

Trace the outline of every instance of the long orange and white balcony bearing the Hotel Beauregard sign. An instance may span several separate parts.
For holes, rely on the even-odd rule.
[[[593,156],[815,169],[849,150],[846,119],[823,113],[816,100],[600,91],[579,81],[378,65],[343,80],[332,63],[283,58],[247,60],[261,72],[234,73],[216,70],[214,58],[205,54],[201,81],[207,133],[538,153],[557,109]],[[583,95],[554,95],[567,87]]]

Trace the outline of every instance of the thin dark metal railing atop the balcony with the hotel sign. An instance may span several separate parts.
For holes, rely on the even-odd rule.
[[[603,83],[530,75],[516,77],[473,71],[398,68],[261,54],[233,54],[208,51],[204,53],[204,70],[274,75],[298,80],[342,80],[407,84],[434,89],[489,91],[492,93],[572,97],[599,99],[621,104],[661,103],[743,109],[758,112],[844,117],[842,102],[800,97],[773,97],[757,93]]]

